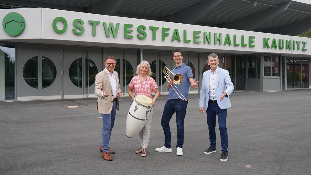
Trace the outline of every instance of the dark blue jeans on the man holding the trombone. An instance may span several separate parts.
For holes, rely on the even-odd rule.
[[[163,109],[163,115],[161,119],[161,125],[164,131],[166,148],[171,148],[171,130],[169,128],[169,121],[172,115],[176,113],[176,125],[177,125],[177,145],[176,148],[183,148],[183,137],[184,137],[184,125],[183,120],[186,117],[188,101],[183,101],[181,99],[171,99],[167,100]]]

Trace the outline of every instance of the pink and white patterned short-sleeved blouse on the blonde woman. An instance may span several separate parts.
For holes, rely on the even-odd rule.
[[[147,97],[152,99],[152,91],[158,88],[156,85],[156,81],[152,77],[148,77],[143,83],[140,82],[138,76],[134,76],[128,85],[129,87],[135,89],[136,95],[146,95]]]

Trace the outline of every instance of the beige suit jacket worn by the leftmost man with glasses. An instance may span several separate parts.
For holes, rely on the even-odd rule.
[[[118,93],[118,92],[121,92],[119,78],[118,78],[118,72],[114,71],[114,76],[117,79],[117,93]],[[102,98],[102,90],[104,90],[106,92],[106,94],[110,94],[110,95],[103,99]],[[111,113],[113,99],[116,97],[113,96],[111,82],[110,82],[109,76],[107,74],[107,71],[105,69],[103,71],[99,72],[95,76],[95,91],[94,92],[95,92],[95,95],[98,97],[97,98],[96,110],[98,110],[98,112],[101,114]],[[117,109],[119,110],[118,99],[117,99]]]

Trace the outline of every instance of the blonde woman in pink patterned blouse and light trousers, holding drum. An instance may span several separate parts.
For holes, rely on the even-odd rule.
[[[137,95],[145,95],[149,97],[152,100],[152,105],[154,106],[156,104],[156,99],[159,97],[160,92],[158,89],[158,86],[156,84],[156,81],[151,77],[151,68],[150,64],[147,61],[142,61],[138,66],[136,70],[137,76],[134,76],[130,82],[128,94],[130,97],[132,97],[132,100],[135,100],[135,97],[133,95],[133,89],[135,89],[135,96]],[[152,98],[151,94],[152,91],[156,93],[154,98]],[[147,156],[147,146],[149,143],[150,138],[150,128],[151,128],[151,119],[152,119],[152,113],[153,110],[151,110],[148,114],[149,118],[145,124],[145,126],[142,128],[142,130],[139,132],[139,140],[141,147],[135,151],[136,154],[142,153],[142,157]]]

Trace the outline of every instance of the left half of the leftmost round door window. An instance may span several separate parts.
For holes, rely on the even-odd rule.
[[[23,67],[24,80],[28,85],[38,89],[38,56],[30,58]]]

